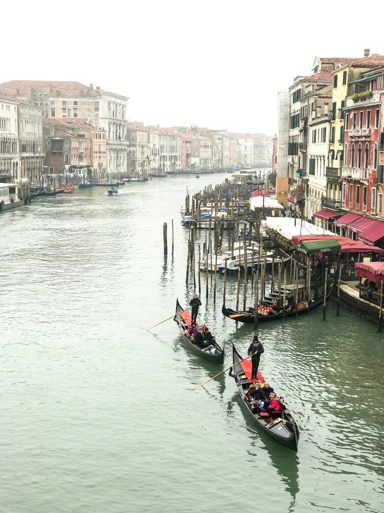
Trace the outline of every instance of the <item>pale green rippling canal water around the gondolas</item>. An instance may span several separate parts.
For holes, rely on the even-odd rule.
[[[187,187],[228,176],[154,178],[112,198],[80,189],[0,216],[1,512],[384,510],[375,325],[343,308],[336,317],[333,302],[325,322],[319,309],[260,325],[260,370],[300,427],[297,453],[254,429],[227,373],[198,386],[253,336],[222,315],[223,276],[215,303],[203,275],[200,318],[224,366],[186,349],[172,319],[146,331],[194,292]],[[228,278],[227,306],[236,294]]]

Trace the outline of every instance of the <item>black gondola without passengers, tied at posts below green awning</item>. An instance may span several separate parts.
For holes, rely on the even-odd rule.
[[[279,296],[279,294],[275,294]],[[327,292],[326,301],[330,298],[331,288]],[[293,293],[290,292],[286,295],[286,304],[283,306],[282,304],[283,294],[280,293],[280,301],[277,297],[273,298],[264,298],[258,309],[258,321],[276,321],[286,317],[293,317],[299,313],[308,312],[308,302],[307,301],[298,301],[297,307],[294,303]],[[265,301],[268,299],[268,301]],[[309,308],[313,310],[324,303],[324,296],[319,298],[312,299],[310,301]],[[283,311],[285,309],[285,312]],[[221,309],[225,317],[232,319],[232,321],[239,321],[245,324],[254,324],[254,308],[248,308],[247,310],[232,310],[231,308],[227,308],[225,304]]]

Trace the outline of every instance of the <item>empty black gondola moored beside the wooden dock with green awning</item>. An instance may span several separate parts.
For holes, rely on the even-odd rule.
[[[330,298],[331,288],[328,290],[326,301]],[[324,296],[321,298],[313,299],[310,302],[310,309],[316,308],[324,303]],[[232,310],[231,308],[227,308],[225,304],[221,311],[224,313],[225,317],[232,319],[232,321],[239,321],[245,324],[254,324],[254,309],[248,308],[248,310]],[[297,315],[300,313],[308,312],[308,303],[306,301],[299,301],[297,303]],[[296,305],[286,305],[285,307],[285,318],[294,317],[296,315]],[[258,321],[266,322],[266,321],[276,321],[283,319],[283,307],[273,306],[273,305],[264,305],[263,302],[259,305],[259,314]]]

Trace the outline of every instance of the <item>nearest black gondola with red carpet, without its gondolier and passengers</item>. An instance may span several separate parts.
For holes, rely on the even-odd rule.
[[[284,404],[284,397],[280,397],[281,413],[276,414],[274,418],[269,417],[266,412],[256,412],[252,409],[251,403],[246,397],[249,385],[251,383],[251,367],[252,363],[249,360],[242,361],[243,358],[237,352],[236,348],[232,345],[233,353],[233,367],[229,371],[229,376],[234,378],[240,393],[241,404],[245,409],[248,417],[252,422],[264,431],[268,436],[274,440],[286,445],[290,449],[297,451],[298,438],[300,433],[298,427],[293,420],[292,415]],[[241,362],[241,363],[239,363]],[[265,381],[262,374],[258,372],[258,380]]]

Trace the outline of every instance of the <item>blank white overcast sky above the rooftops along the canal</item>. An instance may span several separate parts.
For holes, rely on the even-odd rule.
[[[0,82],[93,83],[129,96],[131,121],[273,135],[278,92],[311,74],[316,55],[363,57],[365,48],[384,54],[384,3],[373,0],[368,11],[353,5],[3,3]]]

